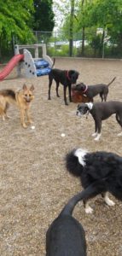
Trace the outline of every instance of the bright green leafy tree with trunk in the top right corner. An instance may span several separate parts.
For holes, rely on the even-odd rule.
[[[121,0],[96,0],[90,9],[91,26],[102,27],[99,54],[102,55],[104,38],[113,37],[122,49],[122,2]],[[109,38],[110,39],[110,38]]]

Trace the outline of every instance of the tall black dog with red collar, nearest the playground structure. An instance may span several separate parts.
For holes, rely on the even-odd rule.
[[[58,88],[59,84],[61,83],[64,86],[64,102],[65,105],[67,104],[67,87],[69,92],[69,101],[72,102],[72,96],[71,96],[71,86],[72,84],[76,84],[76,81],[78,79],[79,73],[75,70],[60,70],[60,69],[52,69],[49,73],[49,100],[50,98],[50,89],[52,85],[53,79],[55,79],[56,83],[56,96],[59,96]]]

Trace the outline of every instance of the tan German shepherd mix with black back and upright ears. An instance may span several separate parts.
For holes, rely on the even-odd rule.
[[[34,99],[33,95],[34,86],[28,88],[26,84],[23,88],[18,91],[14,90],[0,90],[0,115],[2,115],[3,120],[9,118],[7,115],[7,109],[9,108],[9,103],[15,104],[20,108],[20,122],[21,125],[26,128],[25,117],[28,123],[32,124],[32,119],[30,117],[29,109],[31,107],[31,102]]]

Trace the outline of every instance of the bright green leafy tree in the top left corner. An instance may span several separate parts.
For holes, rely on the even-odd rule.
[[[0,55],[2,48],[8,48],[13,35],[26,39],[30,30],[33,0],[0,0]],[[30,34],[31,37],[31,34]]]

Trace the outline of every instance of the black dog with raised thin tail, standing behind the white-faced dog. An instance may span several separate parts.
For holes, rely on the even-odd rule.
[[[109,84],[95,84],[95,85],[85,85],[84,83],[76,84],[75,90],[81,91],[85,96],[90,98],[90,102],[93,102],[93,97],[96,95],[100,95],[102,102],[107,101],[107,94],[108,94],[108,86],[113,83],[113,80]]]

